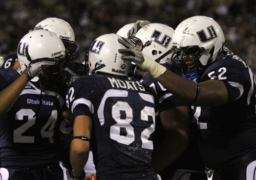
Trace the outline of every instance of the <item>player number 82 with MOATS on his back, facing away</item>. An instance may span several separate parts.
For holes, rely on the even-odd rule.
[[[98,180],[158,178],[151,167],[158,98],[150,87],[125,80],[131,61],[121,59],[118,38],[105,34],[92,43],[90,75],[78,78],[67,92],[66,104],[75,116],[73,179],[84,178],[89,147]]]

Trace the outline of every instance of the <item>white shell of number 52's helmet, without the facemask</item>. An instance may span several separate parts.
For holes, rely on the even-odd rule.
[[[204,48],[199,59],[203,66],[218,58],[224,43],[220,25],[206,16],[193,16],[182,21],[175,29],[172,40],[174,50],[189,46]]]

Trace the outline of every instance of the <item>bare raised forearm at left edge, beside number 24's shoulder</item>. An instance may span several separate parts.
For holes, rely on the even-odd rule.
[[[28,82],[28,77],[23,74],[0,92],[0,116],[5,114],[12,107]]]

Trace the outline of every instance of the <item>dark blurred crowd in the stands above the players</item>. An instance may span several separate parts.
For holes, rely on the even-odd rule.
[[[205,15],[221,25],[226,46],[256,73],[255,12],[254,0],[0,0],[0,55],[15,53],[19,40],[47,17],[70,23],[75,58],[82,62],[94,39],[127,23],[148,20],[175,29],[190,16]]]

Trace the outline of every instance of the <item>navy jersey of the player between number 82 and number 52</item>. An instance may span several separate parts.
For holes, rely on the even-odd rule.
[[[170,63],[162,64],[168,70],[176,72],[175,67]],[[169,93],[158,81],[156,81],[150,73],[147,73],[144,77],[143,84],[146,84],[154,89],[159,97],[159,112],[172,109],[174,107],[189,106],[186,102],[175,97],[172,93]],[[191,117],[192,118],[192,117]],[[164,130],[158,131],[155,142],[156,145],[161,143],[163,139],[162,133]],[[162,179],[172,178],[177,169],[186,170],[201,170],[204,171],[204,165],[199,155],[199,149],[197,145],[198,130],[195,122],[191,122],[189,130],[189,145],[182,155],[170,166],[159,172]],[[160,141],[159,141],[160,140]],[[170,152],[172,153],[172,152]],[[205,175],[206,178],[206,175]],[[207,178],[206,178],[207,179]]]

